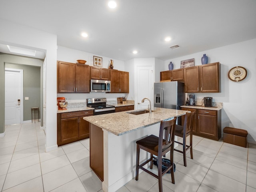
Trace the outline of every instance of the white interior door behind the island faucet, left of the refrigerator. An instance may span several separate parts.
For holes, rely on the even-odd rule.
[[[136,109],[148,108],[149,101],[145,100],[141,102],[143,98],[149,98],[151,100],[151,107],[154,105],[154,67],[153,66],[137,66],[136,70],[136,92],[135,101]],[[136,97],[137,96],[137,97]]]

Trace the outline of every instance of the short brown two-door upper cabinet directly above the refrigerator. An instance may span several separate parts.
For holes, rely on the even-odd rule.
[[[161,81],[166,81],[166,80],[183,81],[184,80],[183,68],[160,72],[160,80]]]

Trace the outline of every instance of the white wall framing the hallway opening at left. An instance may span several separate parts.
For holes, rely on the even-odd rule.
[[[0,19],[0,43],[46,52],[46,151],[57,149],[57,36]]]

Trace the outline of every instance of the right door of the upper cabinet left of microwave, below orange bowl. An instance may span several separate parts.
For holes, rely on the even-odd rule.
[[[76,64],[76,92],[90,92],[90,67],[84,64]]]

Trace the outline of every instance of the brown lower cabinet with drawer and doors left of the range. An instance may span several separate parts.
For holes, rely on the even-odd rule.
[[[85,116],[92,116],[93,110],[57,114],[58,146],[89,138],[89,122]]]

